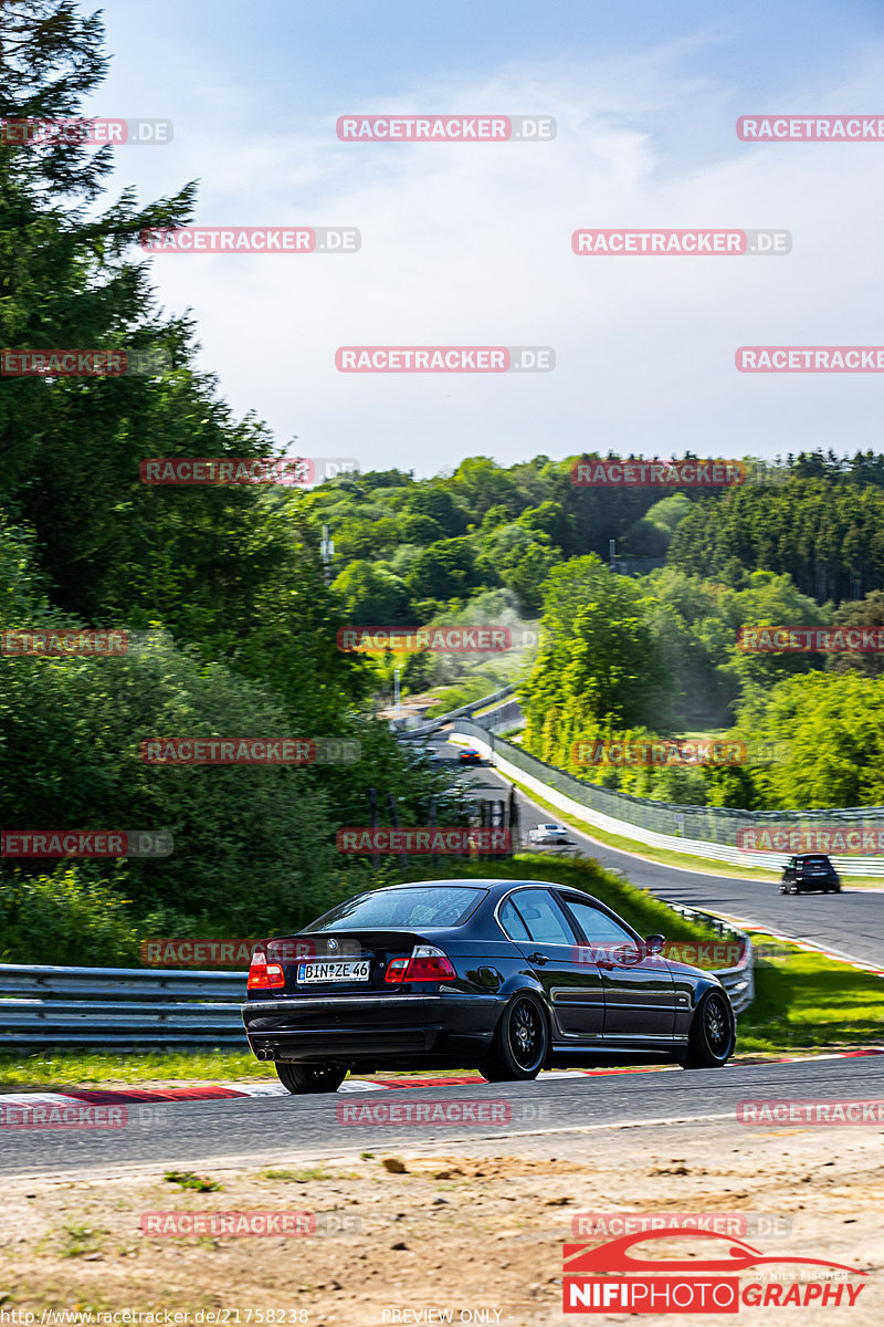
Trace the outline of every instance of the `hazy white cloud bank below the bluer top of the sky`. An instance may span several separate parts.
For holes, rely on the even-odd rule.
[[[333,121],[252,137],[239,127],[239,94],[207,113],[207,78],[192,86],[175,145],[121,151],[118,179],[143,171],[146,196],[199,175],[204,224],[360,230],[354,256],[152,264],[166,307],[192,307],[203,365],[233,409],[256,410],[280,441],[297,433],[310,454],[427,474],[474,453],[509,463],[608,446],[661,455],[875,446],[875,376],[753,377],[733,357],[745,342],[884,341],[884,145],[740,143],[722,89],[692,72],[698,54],[681,44],[596,65],[513,66],[408,101],[341,107],[549,113],[551,143],[343,145]],[[763,109],[873,110],[876,69],[880,52],[867,52],[856,86],[824,98],[797,90],[801,105]],[[571,253],[575,228],[604,226],[785,227],[794,249]],[[558,366],[357,377],[334,368],[343,344],[553,345]]]

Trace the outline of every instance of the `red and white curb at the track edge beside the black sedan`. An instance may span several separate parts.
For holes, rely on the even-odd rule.
[[[850,1060],[868,1055],[884,1055],[884,1046],[867,1046],[859,1051],[834,1051],[823,1055],[783,1055],[778,1060],[762,1060],[744,1068],[766,1068],[771,1064],[793,1064],[798,1060]],[[734,1064],[740,1068],[740,1064]],[[677,1064],[651,1064],[641,1068],[610,1068],[610,1070],[553,1070],[539,1074],[534,1080],[539,1084],[559,1083],[562,1079],[604,1078],[624,1074],[672,1074],[677,1071]],[[400,1079],[347,1079],[338,1088],[338,1093],[349,1092],[384,1092],[402,1091],[407,1088],[439,1088],[439,1087],[485,1087],[485,1079],[476,1075],[461,1075],[457,1078],[400,1078]],[[281,1083],[200,1083],[195,1087],[170,1088],[126,1088],[122,1091],[91,1091],[89,1088],[68,1088],[60,1092],[9,1092],[0,1093],[0,1112],[4,1105],[66,1105],[69,1101],[82,1101],[87,1105],[137,1105],[150,1103],[159,1105],[163,1101],[225,1101],[248,1096],[288,1096],[289,1093]],[[1,1123],[1,1121],[0,1121]]]

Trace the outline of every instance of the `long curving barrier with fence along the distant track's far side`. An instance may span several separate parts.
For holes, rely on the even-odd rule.
[[[559,811],[623,839],[653,848],[689,853],[732,867],[781,871],[787,852],[747,852],[737,848],[737,831],[757,825],[884,825],[884,807],[836,807],[819,811],[740,811],[732,807],[689,807],[669,802],[634,798],[616,788],[603,788],[566,774],[546,760],[529,755],[472,719],[457,719],[452,739],[459,736],[484,748],[508,779],[543,798]],[[884,856],[834,856],[836,869],[846,876],[884,876]]]

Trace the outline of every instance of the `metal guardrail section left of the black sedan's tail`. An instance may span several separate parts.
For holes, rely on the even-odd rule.
[[[245,973],[0,963],[0,1051],[45,1046],[247,1050]]]

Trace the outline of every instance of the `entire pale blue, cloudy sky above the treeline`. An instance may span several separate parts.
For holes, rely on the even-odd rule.
[[[89,8],[89,7],[85,7]],[[200,226],[346,226],[353,253],[158,253],[200,368],[280,446],[419,476],[580,451],[879,450],[880,374],[746,374],[741,345],[884,344],[884,141],[741,142],[881,114],[856,0],[107,0],[89,114],[174,122],[111,194],[199,182]],[[341,142],[345,114],[533,114],[553,141]],[[785,228],[771,256],[577,256],[578,228]],[[549,373],[345,374],[351,345],[551,346]]]

